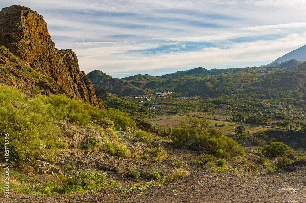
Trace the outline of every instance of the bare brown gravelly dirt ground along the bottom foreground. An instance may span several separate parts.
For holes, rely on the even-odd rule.
[[[10,193],[10,199],[0,192],[3,203],[63,203],[63,202],[265,202],[303,203],[306,198],[306,162],[296,161],[286,172],[261,174],[254,172],[196,172],[161,186],[144,190],[118,192],[118,188],[93,194],[31,195]],[[118,193],[116,193],[118,192]]]

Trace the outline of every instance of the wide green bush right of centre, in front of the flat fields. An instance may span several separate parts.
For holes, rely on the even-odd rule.
[[[189,149],[201,149],[219,157],[232,157],[244,154],[233,139],[225,137],[216,131],[208,131],[209,120],[190,118],[188,123],[181,120],[182,128],[173,130],[173,142],[176,146],[187,146]],[[221,151],[222,150],[222,151]],[[223,154],[222,154],[223,153]],[[222,156],[220,156],[222,155]]]

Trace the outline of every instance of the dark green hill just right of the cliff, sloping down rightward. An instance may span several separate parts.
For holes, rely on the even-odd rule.
[[[90,79],[96,91],[105,89],[112,94],[121,96],[148,94],[148,92],[141,90],[124,79],[113,78],[99,70],[91,71],[87,74],[87,77]]]

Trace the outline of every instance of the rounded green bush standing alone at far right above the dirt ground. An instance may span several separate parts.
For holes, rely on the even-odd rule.
[[[293,153],[293,150],[282,142],[271,142],[263,146],[261,153],[267,157],[285,156]]]

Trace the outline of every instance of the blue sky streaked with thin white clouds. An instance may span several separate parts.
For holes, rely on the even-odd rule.
[[[269,64],[306,44],[303,0],[11,0],[47,22],[86,74],[160,76]]]

